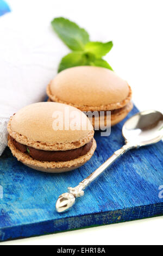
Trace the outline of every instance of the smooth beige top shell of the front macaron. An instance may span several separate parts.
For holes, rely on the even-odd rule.
[[[78,130],[71,130],[73,116],[80,120]],[[70,125],[66,126],[68,130],[65,130],[65,124],[63,130],[54,130],[56,117],[69,120]],[[42,150],[79,148],[88,143],[94,134],[89,119],[82,111],[56,102],[39,102],[22,108],[10,118],[8,131],[16,141]]]

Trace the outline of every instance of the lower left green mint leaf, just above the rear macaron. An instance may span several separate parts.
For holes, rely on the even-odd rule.
[[[87,56],[83,52],[71,52],[61,59],[58,72],[72,68],[72,66],[88,65]]]

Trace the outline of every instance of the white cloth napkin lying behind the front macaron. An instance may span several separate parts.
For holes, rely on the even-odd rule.
[[[50,21],[38,26],[29,14],[14,11],[0,17],[0,155],[7,145],[9,117],[45,99],[46,86],[68,52]]]

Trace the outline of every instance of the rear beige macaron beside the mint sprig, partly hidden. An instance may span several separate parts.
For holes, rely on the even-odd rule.
[[[111,125],[133,108],[131,88],[114,71],[97,66],[76,66],[61,71],[47,86],[48,101],[66,103],[81,111],[111,111]],[[95,118],[92,120],[95,126]],[[105,124],[106,125],[106,124]]]

